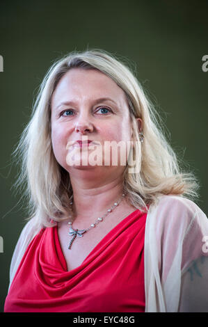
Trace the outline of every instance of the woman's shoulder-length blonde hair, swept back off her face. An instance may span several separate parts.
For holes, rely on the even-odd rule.
[[[33,104],[31,120],[24,129],[13,152],[21,170],[15,188],[28,201],[29,218],[35,216],[37,228],[51,226],[51,219],[69,218],[72,187],[70,175],[59,165],[51,147],[51,96],[61,77],[72,67],[97,69],[122,88],[129,104],[131,125],[134,130],[133,147],[138,150],[138,173],[123,174],[123,189],[131,205],[147,209],[161,194],[195,197],[198,183],[192,173],[179,168],[179,160],[166,141],[161,119],[131,68],[112,54],[100,49],[72,51],[56,61],[43,79]],[[143,120],[144,140],[139,142],[136,118]],[[135,147],[138,146],[139,149]]]

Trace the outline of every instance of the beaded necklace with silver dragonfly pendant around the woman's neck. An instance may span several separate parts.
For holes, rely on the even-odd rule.
[[[107,212],[102,216],[102,217],[98,217],[94,223],[92,223],[90,225],[89,228],[86,228],[86,230],[78,230],[78,228],[73,228],[72,227],[72,222],[70,221],[68,224],[70,225],[70,232],[69,232],[69,235],[72,237],[71,241],[70,241],[70,244],[68,246],[68,249],[70,250],[70,248],[72,247],[72,243],[74,241],[74,239],[76,239],[76,237],[83,237],[83,234],[85,232],[88,232],[88,230],[91,230],[92,228],[95,228],[95,226],[98,224],[98,223],[101,223],[103,221],[103,219],[108,215],[110,214],[110,212],[113,211],[113,209],[115,209],[115,207],[118,207],[118,205],[120,204],[120,202],[122,201],[122,199],[125,197],[125,194],[122,194],[122,197],[118,200],[118,202],[114,202],[113,206],[111,208],[109,208],[107,210]],[[70,205],[72,205],[72,202],[70,202]]]

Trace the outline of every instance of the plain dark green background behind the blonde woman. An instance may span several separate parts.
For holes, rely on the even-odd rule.
[[[10,259],[24,225],[24,204],[11,186],[11,152],[29,121],[35,90],[52,61],[100,48],[133,65],[163,115],[171,144],[200,180],[197,202],[207,214],[208,1],[1,1],[0,311]]]

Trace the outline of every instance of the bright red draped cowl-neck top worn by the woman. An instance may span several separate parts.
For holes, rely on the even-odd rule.
[[[42,229],[19,264],[4,312],[145,312],[146,216],[136,209],[71,271],[57,226]]]

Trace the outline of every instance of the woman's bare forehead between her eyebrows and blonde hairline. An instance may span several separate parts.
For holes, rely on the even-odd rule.
[[[90,101],[98,97],[111,97],[118,105],[127,104],[125,92],[110,77],[99,70],[72,68],[58,82],[51,98],[51,106],[58,102]]]

